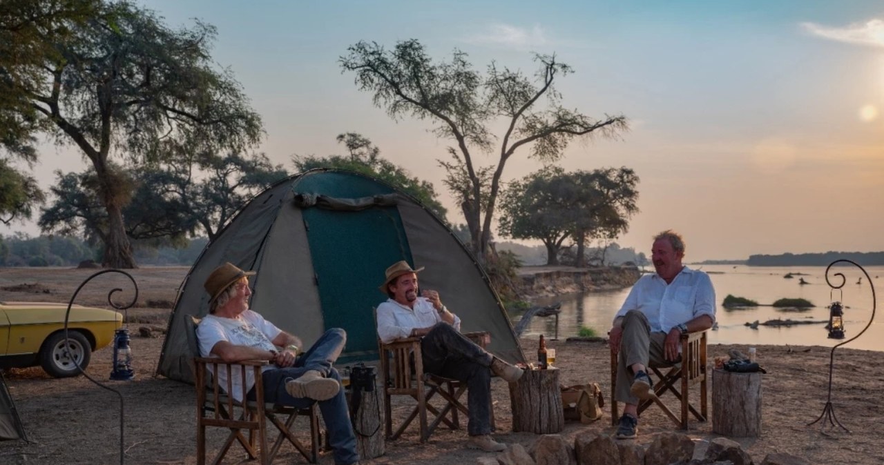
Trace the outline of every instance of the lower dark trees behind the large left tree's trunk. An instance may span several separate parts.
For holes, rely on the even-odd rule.
[[[118,169],[132,185],[123,208],[126,236],[142,244],[183,245],[202,227],[210,240],[248,200],[286,171],[263,154],[204,156],[199,161],[175,155],[170,161]],[[79,232],[90,243],[103,242],[107,211],[95,195],[95,174],[62,174],[50,188],[54,201],[44,208],[40,227],[61,235]]]

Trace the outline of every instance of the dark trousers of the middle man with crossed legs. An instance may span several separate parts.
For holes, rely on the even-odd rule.
[[[437,323],[421,341],[423,370],[467,383],[470,436],[492,432],[491,354],[447,323]]]

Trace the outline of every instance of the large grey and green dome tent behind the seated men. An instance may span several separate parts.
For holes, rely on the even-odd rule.
[[[513,326],[488,276],[451,229],[408,194],[338,169],[313,169],[273,184],[206,245],[179,289],[157,372],[192,381],[190,315],[209,311],[202,283],[229,261],[255,270],[251,308],[312,344],[331,327],[347,331],[342,363],[377,359],[372,308],[399,260],[425,266],[421,286],[436,289],[461,317],[461,330],[489,331],[489,349],[522,362]]]

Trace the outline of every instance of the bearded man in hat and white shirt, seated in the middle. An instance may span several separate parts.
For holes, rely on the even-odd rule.
[[[491,437],[491,373],[514,383],[522,369],[492,356],[460,333],[461,319],[446,309],[435,290],[417,296],[417,274],[402,260],[386,269],[380,289],[388,297],[377,306],[377,336],[390,342],[421,337],[423,370],[467,384],[470,439],[467,446],[486,452],[507,448]]]

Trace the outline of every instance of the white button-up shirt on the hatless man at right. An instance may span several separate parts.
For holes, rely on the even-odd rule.
[[[636,281],[614,320],[627,311],[644,313],[652,333],[668,333],[675,326],[700,315],[715,321],[715,289],[709,275],[687,266],[667,284],[658,274],[644,274]]]

